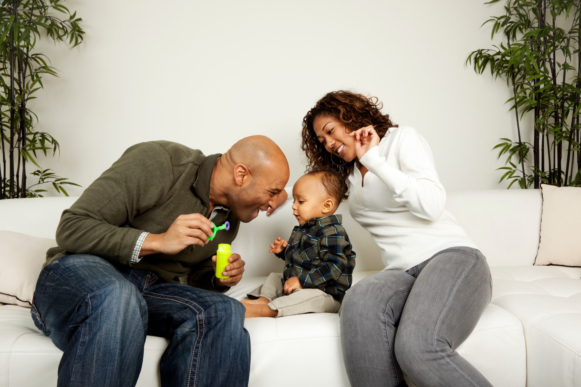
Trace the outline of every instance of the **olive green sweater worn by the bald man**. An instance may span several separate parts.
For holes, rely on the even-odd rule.
[[[45,266],[70,254],[92,254],[116,266],[130,265],[142,232],[164,233],[182,214],[208,214],[210,178],[218,157],[168,141],[130,147],[63,212],[56,230],[59,247],[46,252]],[[189,285],[215,290],[211,256],[218,244],[234,240],[240,225],[232,212],[218,213],[213,222],[221,225],[226,220],[230,229],[218,232],[203,247],[191,245],[175,255],[147,255],[131,267],[153,270],[170,282],[187,276]]]

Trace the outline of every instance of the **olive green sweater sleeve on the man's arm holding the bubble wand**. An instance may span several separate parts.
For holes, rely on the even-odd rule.
[[[127,149],[66,209],[56,230],[60,248],[129,265],[139,235],[134,216],[155,207],[173,182],[169,154],[159,144]]]

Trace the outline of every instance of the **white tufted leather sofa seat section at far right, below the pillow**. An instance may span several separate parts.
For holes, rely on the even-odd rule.
[[[528,387],[581,385],[581,268],[491,267],[492,303],[521,320]]]

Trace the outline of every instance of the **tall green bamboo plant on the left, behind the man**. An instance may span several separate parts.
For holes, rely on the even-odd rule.
[[[60,147],[49,133],[35,130],[38,117],[27,104],[44,87],[44,75],[57,75],[48,57],[35,49],[38,39],[45,35],[74,47],[83,41],[82,20],[63,0],[0,0],[0,199],[42,196],[47,183],[69,196],[63,186],[78,186],[38,164],[37,152],[54,156]],[[30,173],[32,185],[29,162],[38,168]]]

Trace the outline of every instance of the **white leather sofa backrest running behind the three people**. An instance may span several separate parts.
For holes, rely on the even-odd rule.
[[[0,230],[54,238],[60,214],[76,197],[0,200]],[[247,276],[281,272],[283,262],[268,252],[278,236],[288,238],[297,224],[292,199],[267,218],[264,212],[242,223],[232,251],[246,261]],[[540,190],[476,190],[448,193],[446,208],[485,254],[491,266],[532,265],[539,247]],[[379,248],[349,215],[347,202],[337,214],[357,253],[356,271],[381,270]]]

